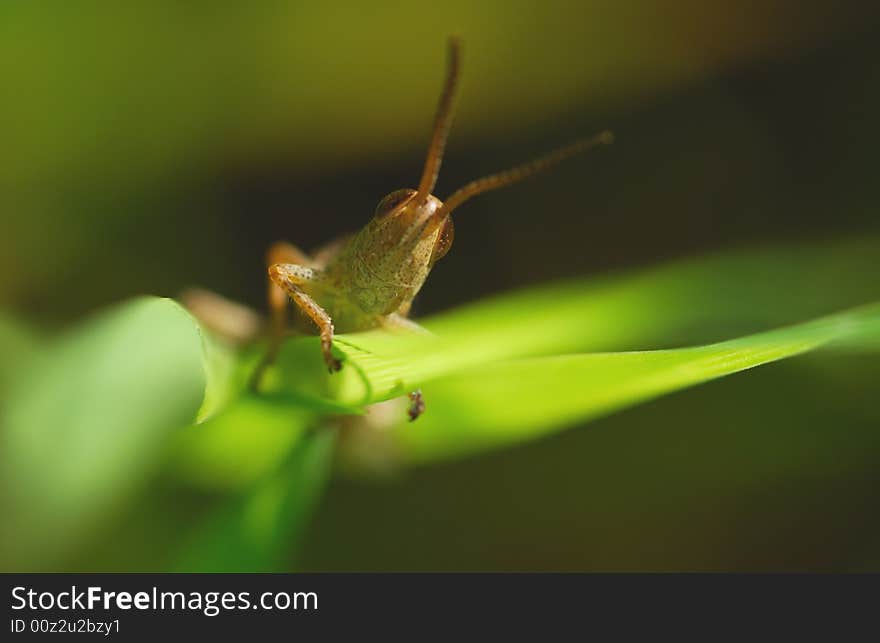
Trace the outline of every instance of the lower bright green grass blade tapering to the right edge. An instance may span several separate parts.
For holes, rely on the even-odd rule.
[[[395,429],[395,450],[424,462],[506,446],[835,342],[878,338],[880,305],[873,305],[705,346],[487,365],[425,384],[428,412]]]

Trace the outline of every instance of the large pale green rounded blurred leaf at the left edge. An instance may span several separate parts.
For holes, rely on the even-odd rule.
[[[205,391],[198,326],[136,299],[49,345],[0,410],[5,567],[50,567],[153,470]]]

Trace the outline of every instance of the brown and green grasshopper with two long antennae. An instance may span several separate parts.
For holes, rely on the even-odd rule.
[[[452,246],[452,212],[473,196],[516,183],[599,144],[611,143],[611,132],[581,139],[546,156],[468,183],[445,201],[431,194],[440,171],[452,124],[459,77],[460,46],[449,40],[449,62],[437,108],[433,135],[419,185],[396,190],[379,202],[372,220],[352,237],[340,239],[308,256],[280,242],[267,255],[271,343],[254,376],[274,361],[287,325],[288,298],[311,320],[321,336],[321,352],[330,372],[342,364],[331,347],[334,332],[377,327],[420,327],[408,319],[413,298],[434,264]],[[410,416],[424,409],[420,395],[411,396]]]

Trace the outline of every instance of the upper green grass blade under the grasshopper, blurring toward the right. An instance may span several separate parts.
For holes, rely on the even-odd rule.
[[[880,288],[867,276],[877,265],[880,239],[850,240],[526,289],[424,320],[434,336],[339,336],[352,368],[332,383],[336,399],[367,403],[496,361],[720,341],[875,300]],[[317,351],[313,339],[290,344],[297,355]]]

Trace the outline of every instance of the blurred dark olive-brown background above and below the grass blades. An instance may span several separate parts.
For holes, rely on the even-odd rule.
[[[262,308],[270,242],[312,248],[417,182],[449,33],[464,82],[441,198],[574,137],[618,142],[463,206],[416,316],[880,232],[869,3],[89,7],[0,9],[0,303],[46,330],[192,285]],[[337,477],[302,567],[877,570],[877,375],[876,356],[798,359]]]

